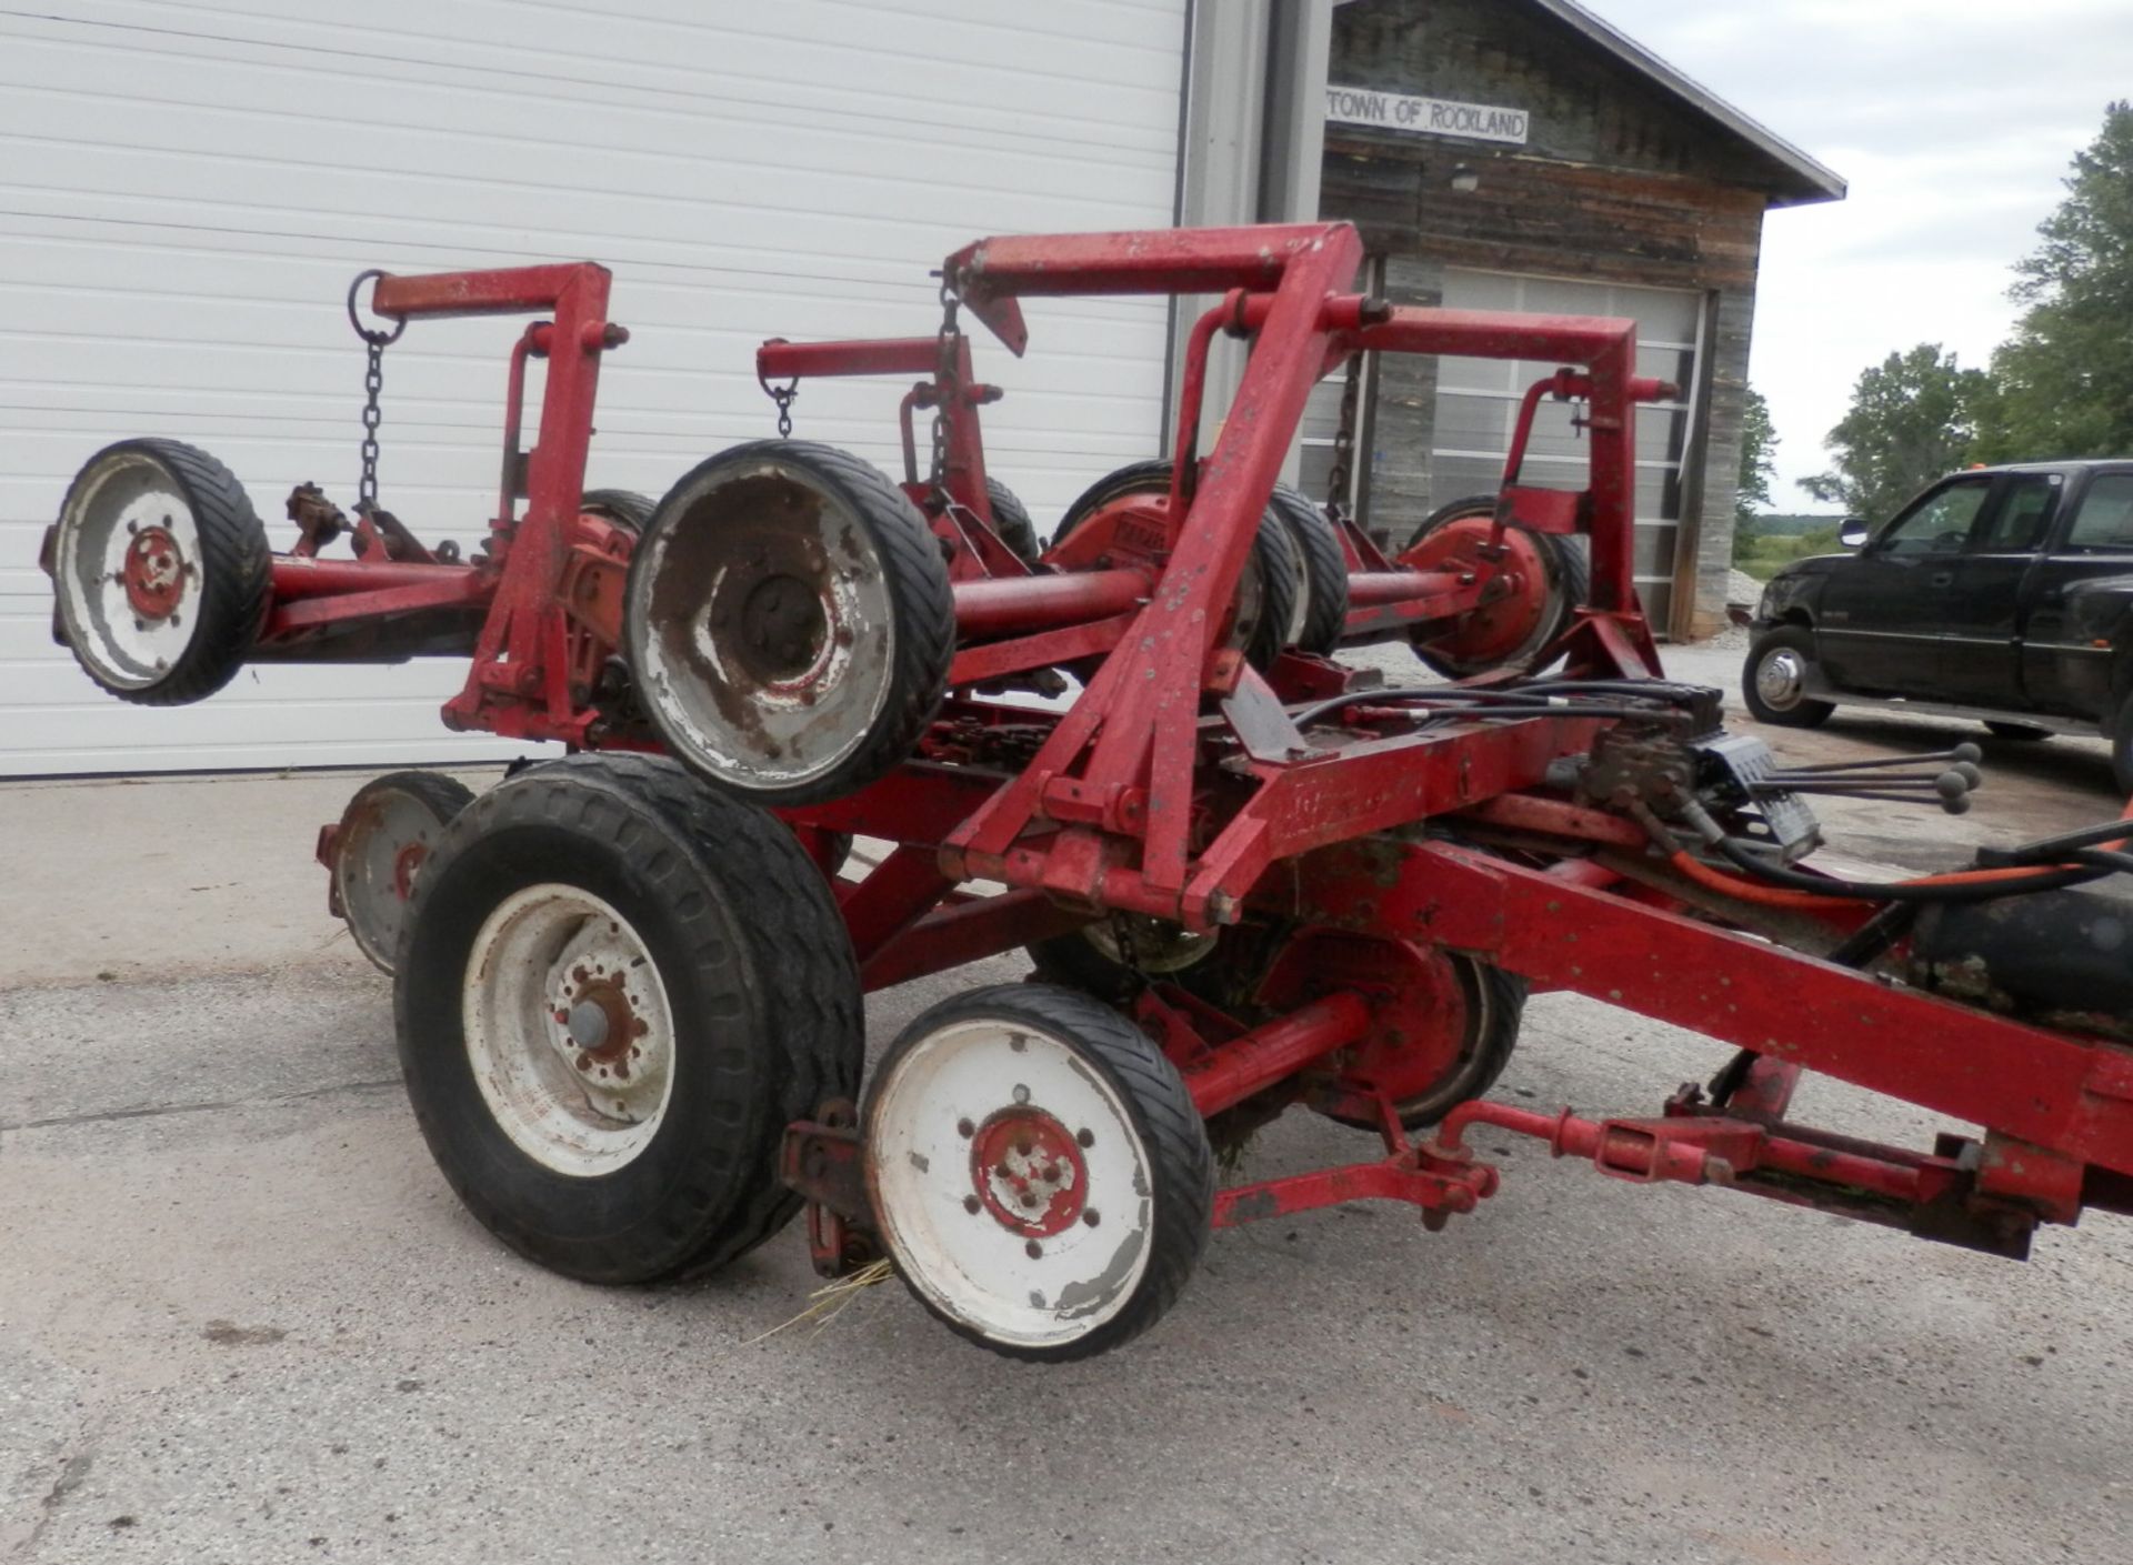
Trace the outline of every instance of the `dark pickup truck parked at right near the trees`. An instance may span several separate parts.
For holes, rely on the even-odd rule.
[[[1787,565],[1741,674],[1749,712],[1969,716],[2001,738],[2101,733],[2133,793],[2133,458],[1954,473],[1854,554]]]

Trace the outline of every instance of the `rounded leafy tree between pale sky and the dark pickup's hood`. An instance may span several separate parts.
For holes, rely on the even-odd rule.
[[[1971,456],[1977,405],[1990,394],[1979,369],[1962,369],[1939,343],[1920,343],[1860,371],[1851,412],[1830,431],[1828,473],[1802,480],[1819,501],[1881,520]]]

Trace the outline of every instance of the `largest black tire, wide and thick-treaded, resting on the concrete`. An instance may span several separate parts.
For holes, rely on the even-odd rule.
[[[631,921],[676,1017],[665,1122],[593,1179],[501,1132],[461,1023],[482,921],[565,876]],[[520,1256],[597,1284],[715,1271],[783,1228],[800,1207],[776,1173],[785,1126],[855,1094],[866,1040],[851,940],[793,834],[655,757],[565,757],[461,812],[416,889],[392,1009],[416,1122],[467,1211]]]

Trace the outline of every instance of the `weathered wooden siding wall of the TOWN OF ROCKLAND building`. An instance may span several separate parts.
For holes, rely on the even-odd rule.
[[[1525,109],[1523,147],[1327,124],[1320,213],[1386,258],[1386,292],[1438,303],[1444,267],[1687,288],[1709,296],[1704,386],[1683,471],[1670,629],[1723,625],[1755,311],[1762,154],[1519,0],[1352,0],[1331,81]],[[1455,192],[1455,164],[1480,185]],[[1372,527],[1404,533],[1429,488],[1436,365],[1386,358]],[[1683,388],[1689,394],[1691,388]]]

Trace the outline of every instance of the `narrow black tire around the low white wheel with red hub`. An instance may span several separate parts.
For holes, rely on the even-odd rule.
[[[875,1066],[866,1107],[860,1111],[862,1134],[872,1134],[875,1102],[881,1083],[892,1077],[898,1058],[928,1032],[973,1017],[1024,1019],[1037,1030],[1075,1038],[1081,1045],[1081,1062],[1118,1092],[1150,1162],[1148,1173],[1152,1200],[1156,1203],[1156,1224],[1148,1271],[1141,1273],[1135,1298],[1111,1316],[1111,1320],[1086,1337],[1052,1348],[994,1341],[947,1316],[911,1279],[904,1279],[904,1286],[934,1320],[943,1322],[964,1341],[973,1341],[1003,1358],[1052,1365],[1094,1358],[1139,1337],[1162,1320],[1192,1277],[1192,1266],[1199,1264],[1201,1249],[1207,1247],[1214,1222],[1214,1149],[1207,1145],[1207,1126],[1199,1109],[1192,1107],[1192,1094],[1177,1075],[1177,1066],[1126,1017],[1073,989],[1041,983],[998,983],[943,1000],[896,1034],[896,1043],[889,1045],[887,1053],[881,1055],[881,1064]]]

